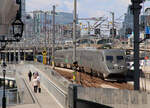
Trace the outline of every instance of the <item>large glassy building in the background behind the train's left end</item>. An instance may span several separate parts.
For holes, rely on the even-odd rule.
[[[27,36],[43,37],[51,40],[53,30],[53,15],[47,11],[33,11],[28,14],[26,22]],[[72,38],[73,14],[66,12],[57,12],[55,15],[55,39],[62,41],[63,39]],[[77,26],[77,38],[80,36],[80,29]]]

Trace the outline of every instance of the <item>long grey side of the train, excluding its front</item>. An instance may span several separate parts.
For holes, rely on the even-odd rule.
[[[57,51],[55,60],[56,63],[62,63],[65,66],[73,64],[73,51],[63,50]],[[97,75],[105,74],[108,70],[104,62],[103,52],[95,50],[77,50],[77,61],[79,67],[84,67],[86,72],[95,72]]]

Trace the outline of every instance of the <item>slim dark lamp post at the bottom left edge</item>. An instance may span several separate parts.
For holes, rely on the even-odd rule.
[[[6,97],[5,97],[5,75],[6,75],[6,63],[5,61],[3,61],[2,63],[2,68],[3,68],[3,77],[4,77],[4,80],[3,80],[3,99],[2,99],[2,108],[6,108]]]

